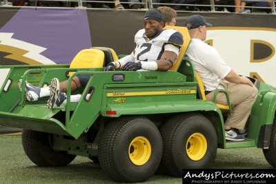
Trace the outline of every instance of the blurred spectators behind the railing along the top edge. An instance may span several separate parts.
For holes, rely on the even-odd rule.
[[[52,6],[52,7],[77,7],[78,1],[36,1],[36,0],[0,0],[1,5],[6,6]],[[148,1],[146,1],[148,2]],[[153,8],[168,6],[175,10],[183,11],[210,11],[210,0],[152,0]],[[248,13],[271,12],[272,0],[215,0],[215,11]],[[141,9],[148,8],[145,0],[83,0],[82,6],[87,8],[117,8],[117,9]],[[274,6],[275,7],[275,6]]]

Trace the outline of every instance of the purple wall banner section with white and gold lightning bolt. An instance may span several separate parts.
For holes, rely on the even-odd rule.
[[[21,8],[0,29],[0,43],[1,52],[13,55],[7,58],[21,63],[70,63],[92,45],[86,10]]]

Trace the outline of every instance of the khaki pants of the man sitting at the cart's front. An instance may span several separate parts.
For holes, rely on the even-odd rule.
[[[251,108],[257,98],[257,88],[242,83],[229,83],[228,81],[221,81],[220,84],[228,91],[233,110],[232,114],[228,116],[225,125],[244,130]],[[206,99],[213,101],[214,94],[215,91],[210,92],[206,95]],[[217,94],[217,103],[227,105],[226,95],[224,93]]]

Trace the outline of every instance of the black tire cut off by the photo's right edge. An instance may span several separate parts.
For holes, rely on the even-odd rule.
[[[263,149],[264,157],[268,163],[276,168],[276,119],[274,119],[268,149]]]

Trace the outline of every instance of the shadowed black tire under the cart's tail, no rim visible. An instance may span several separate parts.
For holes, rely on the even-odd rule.
[[[41,167],[66,166],[75,159],[75,155],[52,149],[52,134],[23,130],[22,145],[28,158]]]

